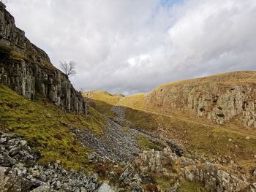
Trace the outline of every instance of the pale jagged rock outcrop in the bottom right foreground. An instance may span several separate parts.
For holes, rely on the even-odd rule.
[[[178,183],[184,178],[190,182],[201,183],[206,191],[255,192],[256,190],[256,183],[252,182],[252,177],[208,161],[178,157],[170,147],[165,147],[162,151],[143,151],[135,159],[133,166],[128,166],[121,174],[120,180],[124,182],[134,180],[136,174],[138,174],[136,178],[140,178],[140,183],[143,183],[143,178],[151,174],[168,178],[169,183],[172,183],[170,188],[165,190],[159,188],[159,191],[178,191]]]

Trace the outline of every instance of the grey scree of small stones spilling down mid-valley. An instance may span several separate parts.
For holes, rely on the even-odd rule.
[[[140,152],[138,139],[136,139],[138,135],[151,139],[149,135],[136,129],[124,130],[113,120],[106,119],[105,122],[105,127],[102,128],[102,132],[104,132],[102,137],[95,136],[92,131],[80,131],[78,128],[71,130],[83,145],[94,150],[98,155],[116,162],[132,160]],[[90,162],[97,160],[93,154],[89,154],[88,158]]]

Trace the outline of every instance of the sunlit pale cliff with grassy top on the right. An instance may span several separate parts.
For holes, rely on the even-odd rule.
[[[217,123],[233,118],[256,128],[256,72],[232,72],[160,85],[147,96],[160,112],[192,110]]]

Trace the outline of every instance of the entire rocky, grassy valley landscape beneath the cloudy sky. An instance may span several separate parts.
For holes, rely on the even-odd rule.
[[[256,191],[256,72],[80,93],[0,19],[0,191]]]

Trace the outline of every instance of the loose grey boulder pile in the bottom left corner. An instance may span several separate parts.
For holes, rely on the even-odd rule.
[[[38,165],[39,153],[18,135],[0,132],[0,191],[102,191],[111,188],[99,183],[97,174],[89,176],[60,164]]]

